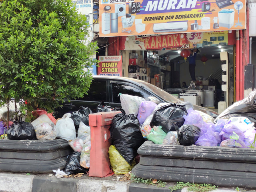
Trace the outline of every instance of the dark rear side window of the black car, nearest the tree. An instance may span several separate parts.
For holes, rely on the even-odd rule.
[[[107,101],[106,80],[92,80],[88,90],[88,95],[84,95],[84,101]]]

